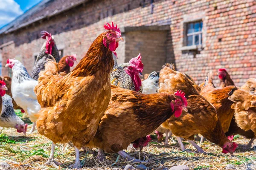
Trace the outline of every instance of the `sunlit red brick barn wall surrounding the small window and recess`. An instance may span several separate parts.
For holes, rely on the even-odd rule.
[[[3,63],[7,58],[21,56],[30,73],[34,61],[32,56],[44,42],[39,38],[41,30],[55,35],[58,47],[64,48],[64,55],[76,53],[81,59],[91,42],[104,31],[103,24],[113,20],[119,26],[169,25],[171,31],[166,37],[165,61],[175,62],[179,71],[189,74],[198,83],[209,71],[216,75],[217,69],[222,67],[227,68],[236,85],[242,85],[249,77],[256,77],[255,0],[154,0],[153,13],[150,0],[145,0],[145,7],[141,2],[143,0],[94,0],[0,37],[3,43],[14,41],[3,47]],[[202,18],[204,29],[203,51],[195,57],[180,50],[183,46],[183,21],[193,17]],[[158,43],[158,40],[152,42]],[[136,56],[138,52],[132,55]],[[119,53],[122,58],[124,51]],[[127,53],[125,51],[125,55]],[[146,57],[147,53],[144,53],[141,52]],[[162,58],[159,60],[163,63]],[[148,61],[154,61],[154,58]],[[153,63],[147,65],[146,69],[154,66]],[[7,74],[6,68],[3,68],[3,74]]]

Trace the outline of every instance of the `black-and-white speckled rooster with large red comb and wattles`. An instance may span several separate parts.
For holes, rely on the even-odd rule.
[[[129,89],[132,91],[142,92],[142,77],[143,63],[141,55],[132,58],[129,63],[123,63],[116,66],[111,73],[111,85],[116,85],[120,88]]]

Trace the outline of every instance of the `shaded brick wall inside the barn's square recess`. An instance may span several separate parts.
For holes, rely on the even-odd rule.
[[[166,62],[167,31],[132,31],[125,39],[125,62],[141,53],[144,73],[160,71]]]

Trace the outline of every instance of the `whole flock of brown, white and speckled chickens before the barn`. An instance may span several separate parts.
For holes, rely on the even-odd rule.
[[[160,142],[166,133],[165,144],[174,134],[182,150],[181,138],[187,139],[201,153],[204,150],[194,142],[198,134],[201,141],[206,138],[223,153],[235,152],[235,134],[251,139],[247,147],[251,146],[256,135],[256,79],[248,79],[239,88],[223,68],[218,72],[219,88],[212,83],[212,73],[198,86],[188,75],[175,71],[174,65],[166,64],[141,81],[141,55],[117,65],[115,50],[123,41],[121,32],[113,22],[104,28],[72,71],[76,55],[61,58],[54,37],[46,31],[41,32],[46,42],[31,76],[20,61],[8,59],[12,79],[0,80],[0,126],[26,135],[27,124],[14,111],[22,109],[33,122],[29,133],[37,127],[52,141],[46,164],[53,167],[61,164],[54,160],[56,143],[73,143],[73,168],[81,168],[79,150],[84,147],[98,148],[99,161],[105,151],[143,162],[124,150],[131,143],[142,150],[152,133]]]

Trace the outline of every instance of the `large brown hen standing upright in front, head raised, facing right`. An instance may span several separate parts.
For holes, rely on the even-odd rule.
[[[85,56],[69,74],[61,76],[58,64],[48,61],[41,71],[35,94],[42,109],[38,112],[38,132],[52,140],[46,164],[54,161],[56,143],[72,142],[76,151],[73,168],[81,167],[79,149],[95,136],[99,121],[111,98],[112,51],[123,41],[117,26],[104,26],[105,32],[92,43]]]

